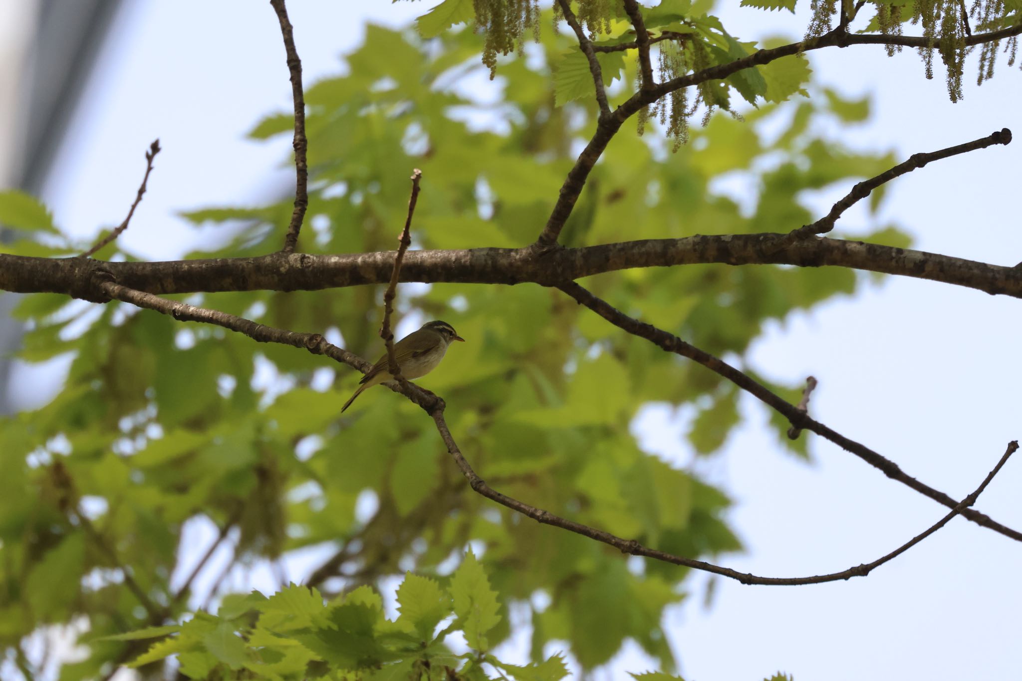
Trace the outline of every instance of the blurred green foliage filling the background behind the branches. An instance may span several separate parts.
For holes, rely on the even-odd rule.
[[[575,67],[573,37],[547,30],[536,49],[498,59],[500,96],[480,97],[485,38],[446,31],[470,18],[472,4],[447,0],[430,10],[419,23],[428,38],[369,27],[364,47],[346,57],[347,75],[308,89],[310,207],[299,250],[392,248],[412,167],[424,174],[415,247],[520,246],[536,238],[595,120],[592,98],[579,96],[584,84],[571,79],[592,83]],[[658,16],[666,23],[648,26],[691,19],[710,27],[730,46],[707,47],[711,58],[749,49],[724,38],[712,16],[695,14],[710,4],[665,1]],[[543,20],[549,26],[549,16]],[[626,31],[616,18],[602,28]],[[610,98],[619,102],[637,65],[634,53],[614,63],[620,72]],[[861,120],[868,103],[814,90],[801,57],[760,74],[713,84],[715,108],[728,108],[721,102],[732,90],[758,107],[744,119],[711,115],[675,154],[662,135],[619,134],[563,241],[783,232],[814,218],[806,193],[850,186],[894,162],[819,136],[818,121]],[[290,130],[290,115],[278,113],[251,136]],[[288,198],[187,213],[232,235],[224,248],[190,257],[274,251],[290,212]],[[0,245],[5,252],[79,248],[22,194],[0,196],[0,221],[16,228]],[[890,228],[880,235],[901,239]],[[833,267],[694,265],[585,284],[630,314],[741,363],[765,322],[850,294],[858,281]],[[381,293],[357,287],[186,299],[326,333],[373,358],[381,351]],[[695,415],[691,450],[719,450],[740,419],[738,394],[719,377],[618,331],[556,290],[435,284],[399,293],[409,328],[443,319],[468,340],[423,384],[445,397],[462,450],[493,486],[677,554],[713,560],[741,549],[727,523],[728,496],[683,461],[643,451],[629,430],[650,402],[686,405]],[[660,623],[664,609],[686,596],[685,569],[626,561],[474,494],[431,421],[400,395],[374,390],[341,417],[356,372],[118,302],[30,295],[15,315],[27,328],[20,358],[71,363],[52,402],[0,421],[0,642],[10,660],[27,665],[19,644],[63,627],[85,646],[81,660],[62,668],[66,679],[132,660],[161,678],[168,655],[191,678],[443,678],[450,667],[457,678],[556,679],[565,670],[560,651],[592,669],[626,639],[662,670],[636,678],[669,678],[677,669],[679,651]],[[775,387],[797,399],[797,386]],[[804,447],[804,438],[791,445],[784,437],[786,424],[775,427],[780,442]],[[238,570],[279,564],[308,547],[331,548],[337,560],[307,586],[269,597],[234,593],[226,572],[219,580],[206,575],[211,593],[180,592],[208,547],[185,531],[189,523],[222,528]],[[466,554],[470,545],[481,563]],[[406,573],[400,617],[387,619],[379,592],[389,593],[389,578]],[[522,626],[512,627],[512,609],[521,614],[516,623],[530,622],[524,667],[499,660],[500,644]],[[448,640],[453,632],[463,643]]]

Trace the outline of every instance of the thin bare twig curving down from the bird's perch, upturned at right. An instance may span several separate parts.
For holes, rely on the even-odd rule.
[[[687,558],[681,555],[675,555],[672,553],[667,553],[665,551],[659,551],[654,548],[649,548],[643,546],[638,541],[634,539],[622,539],[616,535],[610,534],[609,532],[604,532],[603,530],[598,530],[596,528],[590,527],[588,525],[583,525],[582,523],[575,523],[574,521],[561,518],[560,516],[554,515],[549,510],[544,510],[543,508],[538,508],[536,506],[529,505],[523,501],[519,501],[513,497],[507,496],[493,489],[483,481],[479,476],[472,470],[472,467],[465,459],[465,456],[461,453],[458,448],[458,444],[455,442],[454,437],[451,435],[451,431],[448,428],[447,422],[444,419],[444,408],[443,406],[432,410],[430,416],[433,418],[433,422],[436,424],[436,430],[440,434],[440,438],[444,440],[444,444],[447,446],[448,451],[451,456],[455,459],[458,468],[461,469],[462,474],[468,480],[468,484],[472,487],[474,491],[481,494],[482,496],[500,503],[503,506],[511,508],[523,516],[527,516],[532,520],[544,523],[545,525],[552,525],[554,527],[559,527],[562,530],[568,530],[569,532],[574,532],[575,534],[580,534],[584,537],[589,537],[590,539],[595,539],[596,541],[609,544],[614,548],[618,549],[622,553],[630,553],[632,555],[643,555],[650,558],[655,558],[657,561],[662,561],[664,563],[670,563],[672,565],[684,566],[686,568],[692,568],[694,570],[701,570],[703,572],[712,573],[714,575],[721,575],[723,577],[729,577],[731,579],[738,580],[742,584],[756,584],[763,586],[798,586],[802,584],[822,584],[824,582],[835,582],[838,580],[846,580],[852,577],[866,577],[870,574],[872,570],[881,566],[888,561],[900,555],[904,551],[909,550],[919,542],[921,542],[926,537],[930,536],[941,527],[947,524],[950,519],[955,516],[963,513],[968,506],[972,505],[976,501],[976,497],[986,488],[993,476],[1001,471],[1001,468],[1008,460],[1008,457],[1018,449],[1018,443],[1012,442],[1008,445],[1008,450],[1005,452],[1004,456],[993,468],[993,470],[986,476],[982,484],[974,491],[972,494],[967,496],[961,502],[954,504],[954,508],[949,514],[944,516],[940,521],[931,526],[922,534],[913,537],[911,540],[894,549],[890,553],[883,555],[880,558],[872,563],[865,565],[858,565],[847,570],[842,570],[841,572],[830,573],[827,575],[815,575],[811,577],[760,577],[758,575],[752,575],[749,573],[738,572],[737,570],[732,570],[731,568],[725,568],[722,566],[713,565],[712,563],[706,563],[704,561],[696,561],[694,558]]]

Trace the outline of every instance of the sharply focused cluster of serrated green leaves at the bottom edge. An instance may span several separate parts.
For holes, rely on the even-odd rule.
[[[567,675],[560,654],[525,667],[489,652],[486,634],[501,620],[497,593],[469,551],[445,580],[408,574],[398,587],[400,617],[384,617],[380,595],[368,586],[325,602],[315,588],[291,584],[269,598],[252,591],[225,597],[217,615],[198,612],[181,625],[147,627],[105,640],[158,639],[131,662],[144,668],[177,655],[190,679],[473,679],[486,670],[517,681],[558,681]],[[460,634],[469,651],[444,642]]]

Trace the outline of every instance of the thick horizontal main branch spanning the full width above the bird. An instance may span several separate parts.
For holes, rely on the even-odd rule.
[[[0,290],[63,293],[104,302],[96,277],[153,294],[217,291],[315,291],[384,284],[393,272],[393,251],[261,257],[101,262],[0,253]],[[553,247],[414,250],[406,253],[402,282],[556,285],[634,267],[717,262],[733,265],[834,265],[916,277],[990,294],[1022,297],[1022,269],[987,264],[908,248],[787,234],[698,235],[683,239],[625,241],[584,248]]]

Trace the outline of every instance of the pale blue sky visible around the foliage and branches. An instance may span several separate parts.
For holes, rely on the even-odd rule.
[[[292,2],[307,85],[337,71],[337,56],[359,44],[364,21],[400,25],[433,4]],[[290,182],[288,139],[244,139],[264,114],[289,108],[287,69],[268,3],[126,5],[45,199],[73,234],[117,224],[144,167],[142,153],[158,137],[165,150],[122,240],[147,257],[170,259],[190,238],[178,210],[261,202]],[[718,13],[745,40],[796,37],[807,22],[804,12],[792,17],[727,5]],[[904,158],[1004,127],[1022,134],[1022,74],[1004,63],[982,88],[967,77],[965,101],[951,104],[942,67],[925,81],[911,51],[889,59],[880,47],[856,46],[810,59],[823,83],[875,96],[869,124],[832,131],[851,146],[890,149]],[[852,210],[842,229],[865,233],[894,221],[918,248],[1014,264],[1022,260],[1020,160],[1022,142],[1016,142],[931,164],[891,185],[879,220]],[[551,191],[553,198],[556,188]],[[823,210],[845,191],[812,197],[812,205]],[[866,284],[852,299],[771,325],[749,363],[786,383],[816,376],[815,417],[962,497],[1007,442],[1022,436],[1020,305],[942,284],[887,279]],[[814,465],[796,461],[763,428],[757,403],[746,399],[743,412],[748,418],[726,453],[695,464],[684,439],[687,409],[652,407],[635,426],[648,448],[695,465],[734,496],[731,520],[748,552],[725,558],[731,567],[772,576],[841,570],[886,553],[945,513],[825,442],[814,443]],[[977,507],[1022,528],[1020,485],[1022,463],[1011,461]],[[208,528],[196,524],[192,532],[198,550]],[[305,565],[292,561],[289,576],[300,578]],[[693,597],[671,610],[666,624],[690,681],[751,681],[778,669],[799,681],[1016,678],[1022,671],[1020,566],[1018,543],[956,519],[865,579],[806,587],[722,581],[707,611],[701,604],[707,580],[697,575],[689,582]],[[264,588],[273,583],[260,571],[252,579]],[[634,646],[630,651],[604,676],[642,671],[644,659]]]

